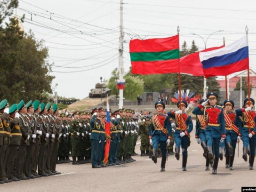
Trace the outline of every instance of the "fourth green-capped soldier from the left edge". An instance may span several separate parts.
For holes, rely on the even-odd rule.
[[[33,114],[34,114],[34,106],[32,105],[32,101],[30,100],[27,104],[26,104],[26,108],[27,108],[27,113],[26,116],[29,119],[29,137],[30,137],[30,145],[27,148],[27,153],[26,153],[26,158],[25,158],[25,164],[24,164],[24,173],[26,175],[26,177],[30,178],[30,179],[35,179],[37,178],[37,176],[34,176],[33,174],[31,174],[31,161],[32,158],[32,154],[34,153],[35,150],[35,143],[33,141],[35,141],[36,139],[36,133],[35,133],[35,122],[34,122],[34,118],[33,118]]]

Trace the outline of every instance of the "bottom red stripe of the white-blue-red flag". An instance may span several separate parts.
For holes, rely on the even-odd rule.
[[[230,63],[230,65],[222,66],[222,67],[211,67],[209,69],[204,70],[205,78],[212,76],[226,76],[229,74],[236,73],[238,71],[248,69],[249,58],[243,59],[241,61],[237,61],[235,63]]]

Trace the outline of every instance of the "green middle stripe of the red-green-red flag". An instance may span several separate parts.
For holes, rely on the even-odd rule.
[[[130,53],[131,61],[162,61],[179,59],[179,49],[161,52],[136,52]]]

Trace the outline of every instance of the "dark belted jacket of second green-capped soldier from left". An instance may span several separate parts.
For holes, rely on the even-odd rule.
[[[21,143],[21,131],[20,131],[20,126],[19,126],[19,118],[11,118],[10,119],[10,130],[11,130],[11,137],[9,139],[9,145],[18,145],[20,146]]]

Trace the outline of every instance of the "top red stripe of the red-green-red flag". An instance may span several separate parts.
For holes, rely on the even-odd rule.
[[[146,40],[133,39],[130,41],[130,53],[159,52],[179,49],[179,35],[167,38],[152,38]]]

